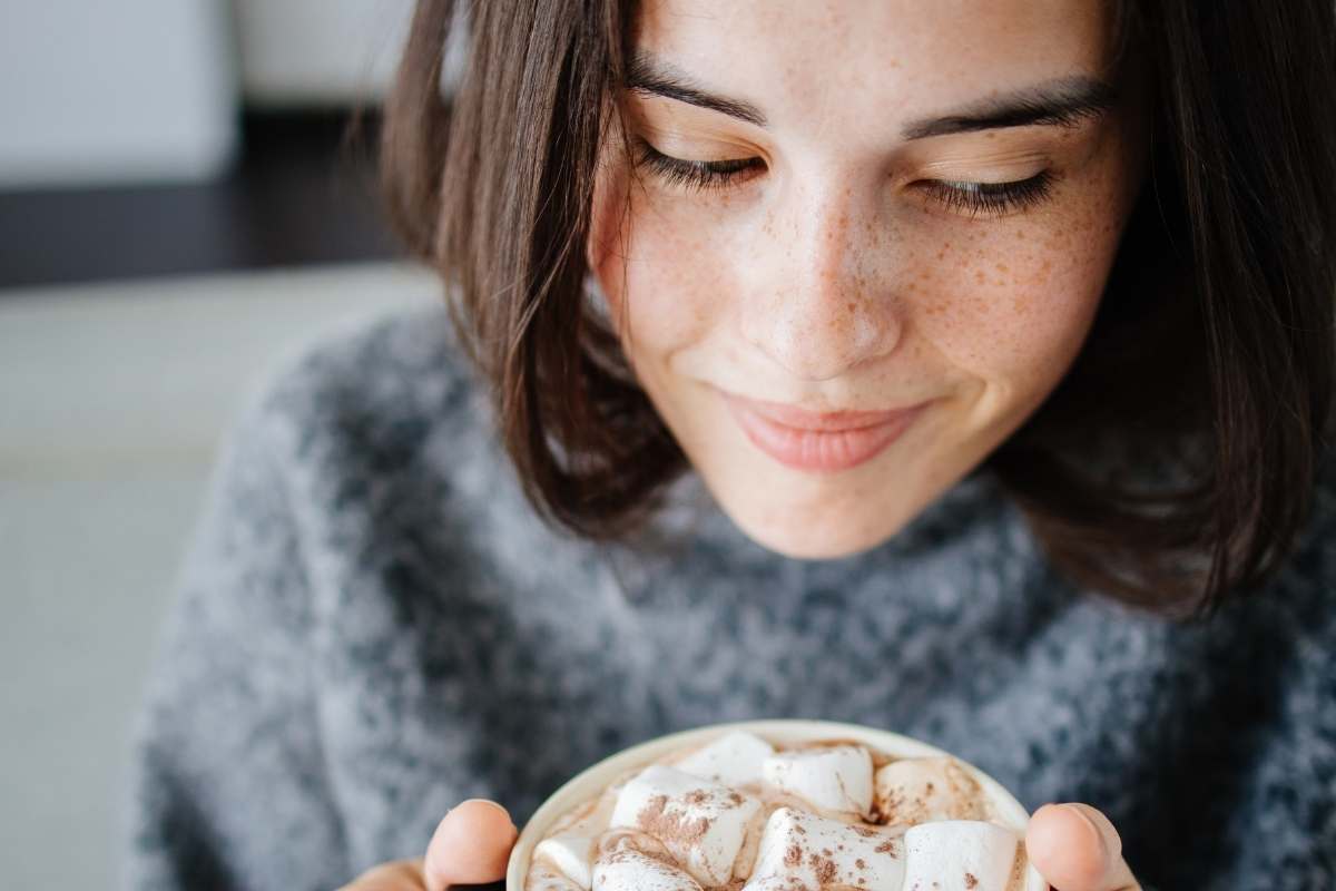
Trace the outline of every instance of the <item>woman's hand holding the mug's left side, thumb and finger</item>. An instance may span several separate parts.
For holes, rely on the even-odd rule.
[[[504,807],[469,799],[441,819],[425,858],[382,863],[339,891],[445,891],[452,884],[500,882],[517,838],[520,830]]]

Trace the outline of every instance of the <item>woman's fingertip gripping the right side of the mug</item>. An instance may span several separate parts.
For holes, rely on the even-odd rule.
[[[1142,891],[1118,831],[1089,804],[1045,804],[1030,818],[1025,847],[1057,891]]]

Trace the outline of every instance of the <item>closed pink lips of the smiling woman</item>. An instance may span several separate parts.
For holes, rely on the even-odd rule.
[[[720,391],[743,433],[780,464],[810,473],[848,470],[880,454],[929,402],[886,411],[808,411]]]

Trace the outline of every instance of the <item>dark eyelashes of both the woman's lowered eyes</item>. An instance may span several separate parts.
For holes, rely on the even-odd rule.
[[[669,186],[709,191],[728,186],[747,170],[763,167],[759,158],[736,160],[683,160],[669,158],[640,140],[636,163]],[[971,183],[963,180],[926,180],[922,188],[949,211],[1001,215],[1023,211],[1042,203],[1053,191],[1053,174],[1042,170],[1029,179],[1010,183]]]

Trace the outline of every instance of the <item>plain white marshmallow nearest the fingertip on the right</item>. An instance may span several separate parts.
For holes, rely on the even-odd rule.
[[[904,891],[1006,891],[1019,839],[983,820],[911,826],[904,832]]]

